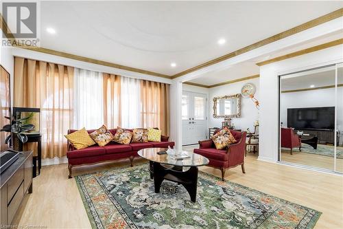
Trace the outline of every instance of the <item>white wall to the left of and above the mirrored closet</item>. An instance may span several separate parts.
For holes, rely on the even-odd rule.
[[[260,67],[259,160],[277,162],[279,154],[279,76],[343,61],[343,45]]]

